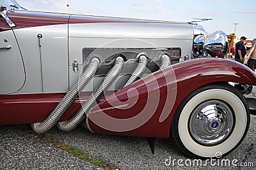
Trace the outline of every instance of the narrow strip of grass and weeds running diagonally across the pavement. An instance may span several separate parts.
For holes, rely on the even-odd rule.
[[[35,137],[36,139],[38,139],[40,141],[44,141],[45,143],[50,143],[50,144],[56,146],[57,148],[60,148],[61,150],[66,151],[67,153],[70,153],[74,157],[77,157],[81,160],[90,162],[94,166],[100,167],[100,169],[106,169],[106,170],[118,169],[118,167],[106,164],[105,162],[100,160],[100,158],[93,157],[92,155],[85,153],[83,150],[79,150],[78,148],[75,148],[74,146],[70,146],[67,143],[58,141],[54,137],[51,137],[51,135],[37,134],[36,132],[31,130],[29,125],[26,125],[26,127],[24,125],[17,125],[17,128],[20,128],[20,129],[28,132],[28,134],[32,135],[33,137]]]

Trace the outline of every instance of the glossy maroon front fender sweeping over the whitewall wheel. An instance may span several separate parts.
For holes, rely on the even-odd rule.
[[[236,61],[220,58],[169,66],[102,100],[88,115],[88,127],[100,133],[168,137],[180,102],[212,82],[256,85],[256,74]]]

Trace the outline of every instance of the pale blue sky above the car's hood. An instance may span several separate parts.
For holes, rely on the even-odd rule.
[[[199,22],[208,33],[221,30],[237,38],[256,38],[256,1],[237,0],[70,0],[71,13],[128,17],[138,19],[189,22],[193,18],[212,19]],[[68,0],[17,0],[28,10],[67,13]]]

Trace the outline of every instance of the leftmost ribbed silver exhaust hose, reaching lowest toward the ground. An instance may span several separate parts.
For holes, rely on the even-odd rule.
[[[54,110],[49,114],[49,116],[42,121],[42,123],[32,123],[31,127],[37,133],[44,133],[50,130],[57,122],[60,120],[63,113],[68,109],[68,107],[74,102],[77,95],[84,89],[84,87],[90,82],[92,77],[95,75],[97,68],[100,65],[100,60],[93,57],[90,60],[90,65],[84,71],[83,75],[78,79],[76,84],[68,91],[68,93],[63,97],[61,102],[54,108]]]

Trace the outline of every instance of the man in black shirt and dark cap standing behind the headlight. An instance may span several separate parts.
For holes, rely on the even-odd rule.
[[[244,63],[244,56],[246,54],[246,49],[244,47],[245,42],[246,42],[246,37],[241,36],[240,42],[236,43],[235,60],[242,64]]]

